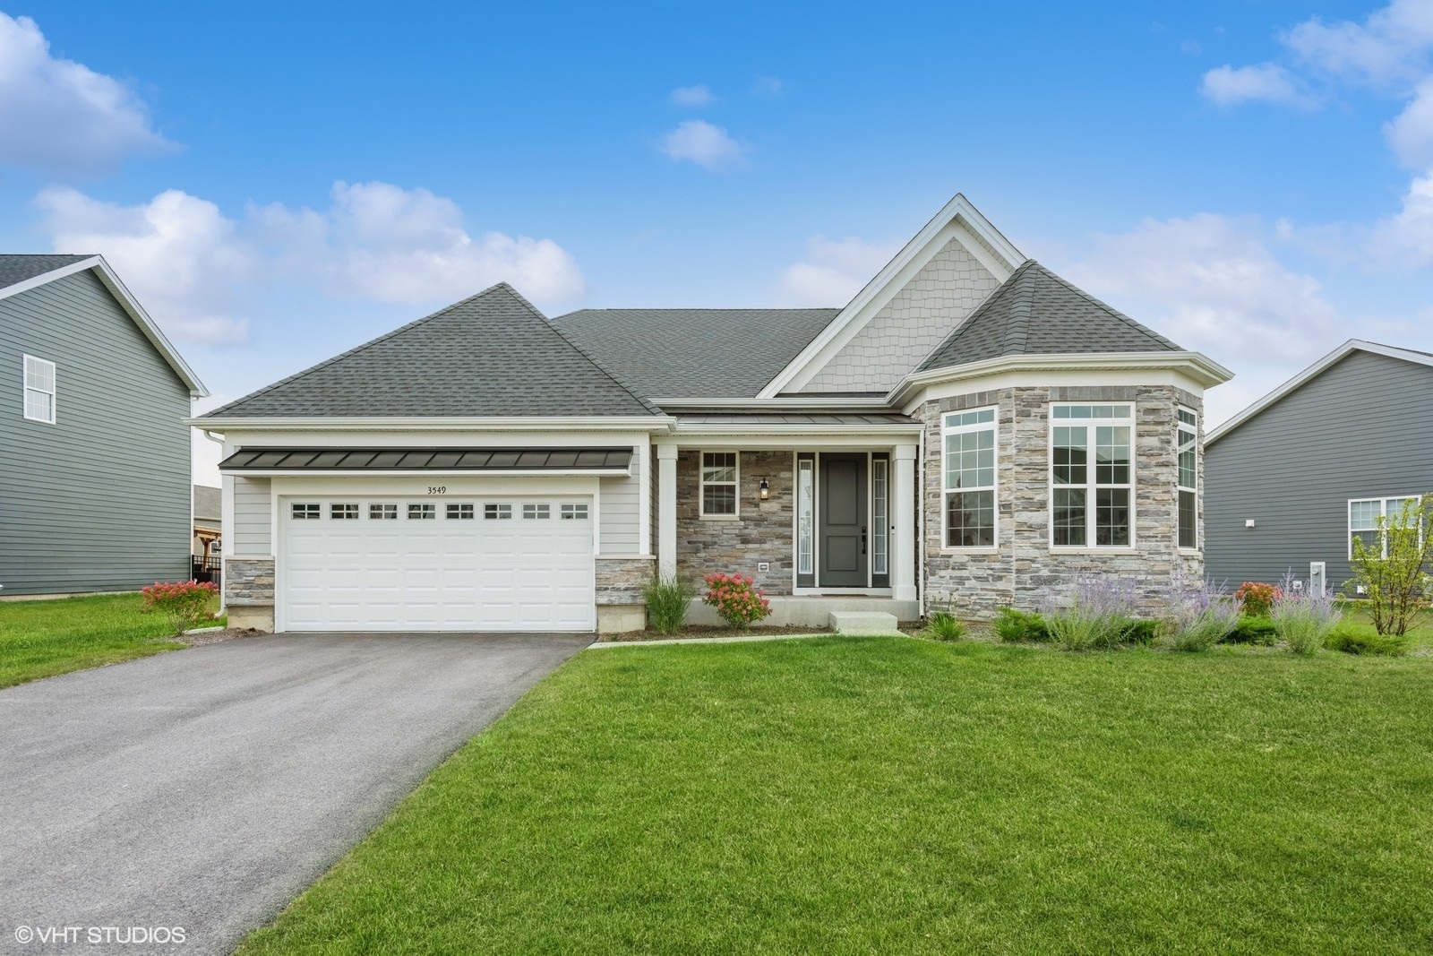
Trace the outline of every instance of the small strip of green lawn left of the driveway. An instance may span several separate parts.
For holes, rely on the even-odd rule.
[[[182,646],[139,595],[0,602],[0,687]]]

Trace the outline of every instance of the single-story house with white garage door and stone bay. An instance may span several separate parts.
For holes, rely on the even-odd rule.
[[[824,625],[1199,579],[1227,378],[957,195],[844,307],[547,318],[502,284],[195,423],[235,623],[620,631],[655,572],[721,570]]]

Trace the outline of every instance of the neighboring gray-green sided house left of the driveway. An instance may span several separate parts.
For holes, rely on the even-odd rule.
[[[0,255],[0,595],[188,578],[205,394],[102,257]]]

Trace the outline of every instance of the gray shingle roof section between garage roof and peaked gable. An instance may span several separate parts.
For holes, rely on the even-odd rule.
[[[653,398],[749,398],[838,308],[585,308],[552,320]]]

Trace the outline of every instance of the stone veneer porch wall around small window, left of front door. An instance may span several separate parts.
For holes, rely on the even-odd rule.
[[[714,449],[715,450],[715,449]],[[767,595],[790,595],[795,480],[794,453],[739,451],[735,519],[701,516],[701,451],[676,454],[676,573],[701,585],[715,570],[755,578]],[[761,479],[771,497],[761,500]],[[771,562],[771,570],[757,570]]]

